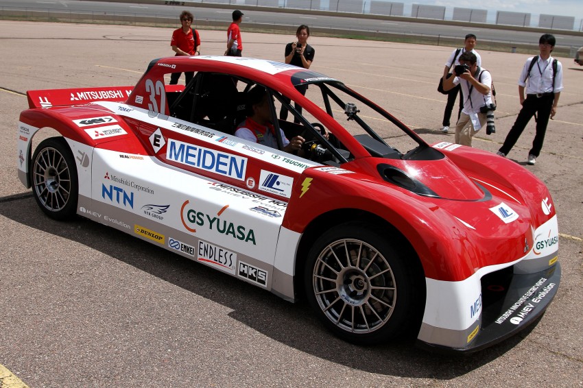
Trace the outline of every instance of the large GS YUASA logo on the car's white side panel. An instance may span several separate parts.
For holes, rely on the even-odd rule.
[[[231,237],[257,245],[255,243],[254,230],[246,228],[243,225],[237,225],[222,215],[227,208],[228,205],[223,206],[217,212],[216,216],[209,215],[189,206],[189,200],[187,199],[180,208],[180,221],[182,221],[182,226],[191,233],[196,233],[196,228],[200,226],[201,228],[211,230],[213,233],[218,232],[225,237]]]

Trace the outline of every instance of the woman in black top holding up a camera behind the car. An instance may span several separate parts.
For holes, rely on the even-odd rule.
[[[309,69],[312,62],[313,57],[316,55],[316,50],[313,49],[310,45],[308,45],[308,38],[310,37],[310,27],[305,24],[300,25],[296,30],[296,38],[298,40],[296,42],[287,43],[285,45],[285,63],[293,64],[294,66],[303,67],[304,69]],[[306,91],[308,89],[307,85],[300,85],[296,86],[298,92],[302,93],[302,95],[306,95]],[[290,99],[284,97],[287,104],[289,104]],[[302,112],[302,107],[298,104],[295,104],[296,110],[298,112]],[[282,120],[287,120],[287,109],[282,105],[281,110],[279,112],[279,118]],[[294,118],[294,122],[298,123],[298,119]]]

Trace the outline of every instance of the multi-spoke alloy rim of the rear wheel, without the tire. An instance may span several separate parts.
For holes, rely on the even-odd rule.
[[[71,195],[71,171],[64,156],[53,147],[41,150],[33,162],[33,190],[45,209],[58,212]]]

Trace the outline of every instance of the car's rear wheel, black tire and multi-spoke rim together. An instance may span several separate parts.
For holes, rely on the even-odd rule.
[[[40,142],[29,173],[34,199],[46,215],[60,221],[75,216],[79,197],[77,165],[64,138]]]

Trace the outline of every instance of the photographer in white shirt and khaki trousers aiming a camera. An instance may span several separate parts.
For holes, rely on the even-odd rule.
[[[444,90],[456,85],[462,88],[464,108],[455,125],[455,144],[472,146],[472,137],[488,121],[486,134],[495,132],[495,104],[492,104],[492,75],[477,65],[474,53],[465,52],[460,56],[460,64],[453,68],[455,77],[443,82]]]

